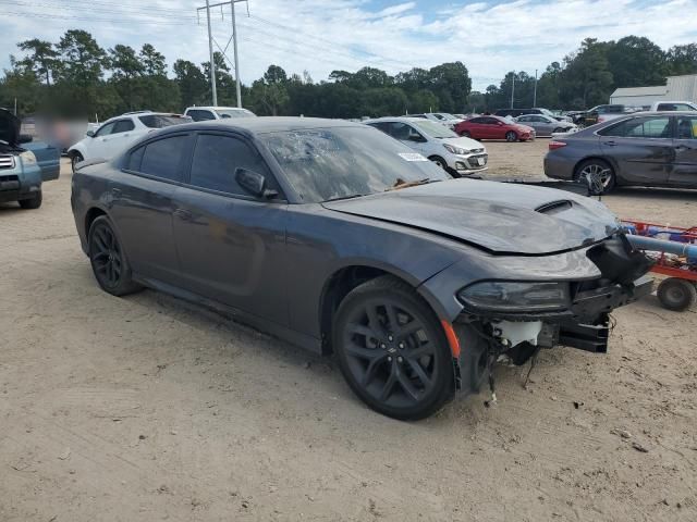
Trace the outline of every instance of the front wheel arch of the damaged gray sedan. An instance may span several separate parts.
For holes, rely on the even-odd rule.
[[[409,274],[395,266],[384,266],[363,261],[353,262],[332,272],[322,287],[318,309],[322,353],[328,355],[333,351],[331,346],[333,318],[343,299],[357,286],[384,275],[390,275],[409,285],[426,301],[439,322],[447,316],[444,308],[436,296],[421,286],[423,282],[409,276]]]

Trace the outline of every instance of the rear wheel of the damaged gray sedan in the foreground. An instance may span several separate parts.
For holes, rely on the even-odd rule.
[[[89,227],[89,261],[102,290],[112,296],[125,296],[140,289],[131,278],[131,266],[119,238],[106,215]]]

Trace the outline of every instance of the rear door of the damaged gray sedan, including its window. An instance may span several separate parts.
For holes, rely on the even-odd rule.
[[[179,260],[172,229],[173,196],[187,165],[192,135],[148,141],[126,158],[110,182],[112,217],[136,274],[176,284]]]

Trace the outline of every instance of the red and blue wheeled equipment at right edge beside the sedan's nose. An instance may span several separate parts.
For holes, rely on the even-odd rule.
[[[658,287],[661,304],[675,311],[693,307],[697,301],[697,227],[634,220],[623,220],[623,224],[629,243],[656,260],[651,272],[668,276]]]

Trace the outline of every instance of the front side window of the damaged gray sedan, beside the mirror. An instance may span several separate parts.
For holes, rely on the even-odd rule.
[[[267,183],[269,182],[268,171],[261,157],[241,139],[210,134],[198,136],[192,161],[192,185],[248,196],[249,194],[235,181],[237,167],[264,174],[267,176]]]

